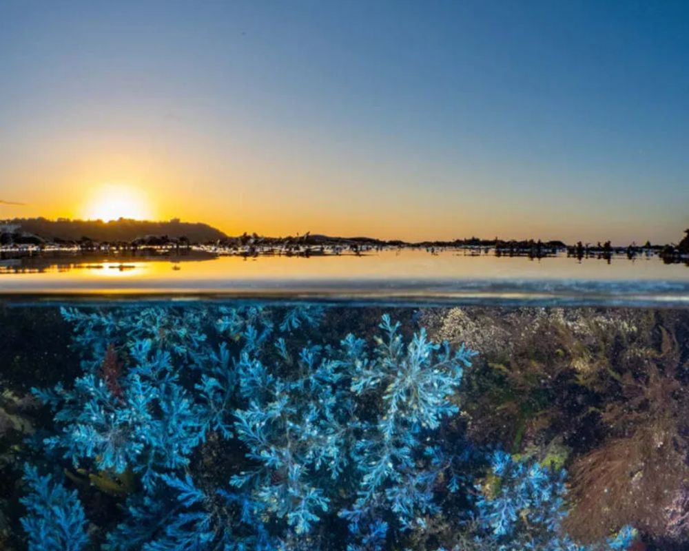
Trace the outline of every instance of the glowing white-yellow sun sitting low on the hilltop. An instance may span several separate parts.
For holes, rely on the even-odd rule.
[[[153,212],[146,194],[136,187],[105,184],[94,190],[83,212],[89,220],[151,220]]]

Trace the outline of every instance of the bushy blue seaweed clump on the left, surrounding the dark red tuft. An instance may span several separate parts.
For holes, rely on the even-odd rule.
[[[71,389],[35,391],[56,411],[61,433],[45,439],[79,466],[84,459],[99,470],[141,472],[150,486],[158,472],[189,462],[189,455],[205,437],[207,410],[194,403],[178,384],[167,351],[154,351],[152,341],[130,345],[132,366],[114,393],[103,377],[88,373]]]

